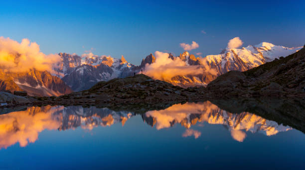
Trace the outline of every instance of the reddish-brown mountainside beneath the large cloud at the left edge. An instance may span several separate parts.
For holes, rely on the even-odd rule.
[[[0,91],[4,90],[26,91],[30,96],[60,96],[72,92],[59,77],[35,69],[20,73],[0,71]]]

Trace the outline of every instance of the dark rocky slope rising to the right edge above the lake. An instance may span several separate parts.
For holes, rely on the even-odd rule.
[[[305,97],[305,48],[245,72],[223,74],[206,91],[211,96]]]

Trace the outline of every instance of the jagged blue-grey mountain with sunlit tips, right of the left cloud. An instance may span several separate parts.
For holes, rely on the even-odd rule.
[[[54,65],[53,69],[73,91],[87,90],[99,81],[131,76],[136,68],[124,56],[117,59],[92,53],[82,57],[67,53],[59,55],[62,61]]]

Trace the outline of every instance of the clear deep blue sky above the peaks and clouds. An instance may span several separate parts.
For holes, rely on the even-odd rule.
[[[305,44],[305,1],[40,0],[0,3],[0,36],[28,38],[46,54],[124,55],[140,64],[154,51],[218,54],[231,38],[288,47]],[[204,30],[206,33],[202,33]]]

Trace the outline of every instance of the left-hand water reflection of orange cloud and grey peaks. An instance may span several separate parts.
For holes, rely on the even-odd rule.
[[[82,109],[76,112],[82,113]],[[38,139],[38,134],[45,129],[65,130],[81,127],[90,131],[95,127],[111,126],[116,122],[122,122],[124,125],[132,117],[131,113],[127,117],[116,115],[116,112],[113,114],[102,117],[97,113],[88,117],[86,114],[67,114],[63,106],[29,107],[25,111],[3,114],[0,115],[0,149],[16,143],[19,143],[20,147],[25,147],[28,143],[34,143]]]

